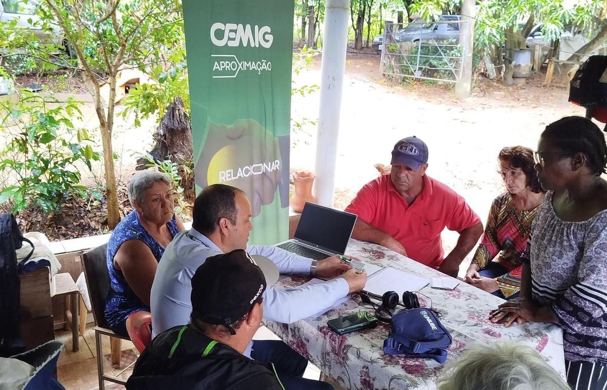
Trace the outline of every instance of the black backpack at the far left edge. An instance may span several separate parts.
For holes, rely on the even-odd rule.
[[[32,245],[32,251],[17,264],[16,250],[23,242]],[[19,266],[34,251],[32,241],[24,238],[13,214],[0,214],[0,356],[9,357],[24,349],[19,331],[19,306],[21,286]]]

